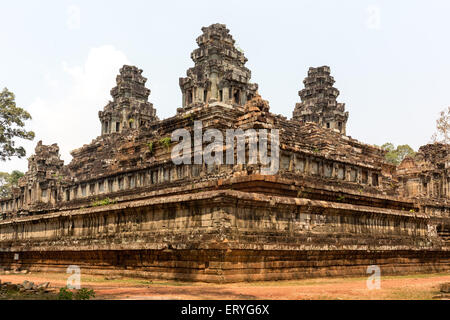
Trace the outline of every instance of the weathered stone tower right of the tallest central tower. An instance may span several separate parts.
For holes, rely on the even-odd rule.
[[[293,120],[315,122],[345,135],[348,112],[345,111],[344,103],[336,101],[339,90],[333,87],[334,78],[330,75],[330,67],[309,68],[303,83],[305,88],[298,92],[302,102],[295,105]]]

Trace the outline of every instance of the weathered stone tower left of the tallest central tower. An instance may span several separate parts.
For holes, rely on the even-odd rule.
[[[148,102],[150,90],[142,70],[124,65],[116,78],[117,86],[111,89],[113,101],[98,113],[102,135],[139,129],[158,120],[153,104]]]

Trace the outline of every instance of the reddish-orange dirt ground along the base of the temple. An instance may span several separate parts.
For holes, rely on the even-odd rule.
[[[49,281],[57,290],[66,285],[67,274],[32,273],[0,275],[2,282]],[[439,284],[450,282],[450,274],[385,277],[381,289],[368,290],[366,278],[320,278],[237,284],[185,283],[84,276],[82,287],[92,288],[98,299],[432,299]]]

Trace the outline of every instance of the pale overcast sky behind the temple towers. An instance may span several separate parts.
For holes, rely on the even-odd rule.
[[[368,144],[430,141],[450,105],[450,1],[2,1],[0,88],[33,116],[33,142],[69,152],[100,133],[123,64],[143,69],[159,118],[181,106],[201,27],[224,23],[271,111],[292,116],[310,66],[329,65],[347,134]],[[0,171],[26,171],[26,159]]]

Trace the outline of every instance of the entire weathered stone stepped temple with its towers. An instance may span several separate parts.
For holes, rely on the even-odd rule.
[[[291,119],[274,114],[225,25],[202,32],[175,116],[158,119],[142,70],[123,66],[101,134],[70,163],[56,144],[37,144],[0,199],[1,268],[208,282],[450,270],[447,145],[389,164],[347,136],[327,66],[308,70]],[[187,137],[174,140],[177,129]],[[216,143],[230,130],[259,132],[277,170],[268,174],[261,154],[250,161],[250,136],[244,149],[211,152],[231,162],[206,161],[207,132]],[[181,145],[194,161],[174,161]]]

